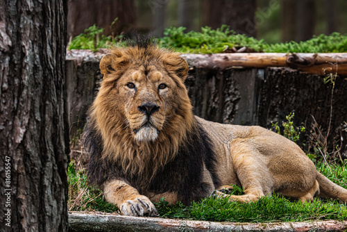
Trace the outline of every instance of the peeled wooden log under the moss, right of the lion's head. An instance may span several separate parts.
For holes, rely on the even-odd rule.
[[[291,67],[309,74],[347,76],[347,53],[219,53],[182,54],[200,68]]]

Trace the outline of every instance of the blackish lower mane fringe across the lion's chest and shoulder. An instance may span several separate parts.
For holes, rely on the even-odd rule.
[[[149,180],[149,176],[130,176],[124,173],[117,161],[101,158],[103,150],[101,135],[93,129],[92,125],[87,126],[85,145],[91,156],[87,175],[90,183],[100,187],[110,179],[125,179],[140,194],[177,192],[178,200],[184,204],[190,204],[193,200],[196,201],[210,194],[208,191],[211,187],[208,183],[202,182],[204,164],[212,176],[214,188],[217,188],[220,183],[212,142],[196,121],[192,131],[187,132],[187,140],[182,142],[174,160],[164,165],[151,181],[146,181],[146,179]],[[146,172],[150,173],[151,167],[148,168]]]

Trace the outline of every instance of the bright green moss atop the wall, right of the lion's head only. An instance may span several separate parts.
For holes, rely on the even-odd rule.
[[[346,52],[347,36],[339,33],[315,36],[304,42],[288,42],[268,44],[264,40],[248,38],[246,35],[237,35],[226,25],[211,29],[208,26],[201,28],[200,32],[190,31],[184,33],[184,27],[167,28],[164,38],[161,38],[162,47],[172,47],[182,53],[221,53],[228,49],[246,47],[251,51],[276,53],[323,53]]]

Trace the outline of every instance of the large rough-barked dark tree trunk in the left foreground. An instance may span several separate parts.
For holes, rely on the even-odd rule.
[[[67,231],[67,3],[0,1],[0,12],[0,228]]]

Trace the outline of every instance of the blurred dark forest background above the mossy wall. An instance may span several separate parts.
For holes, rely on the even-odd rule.
[[[70,40],[94,24],[105,35],[156,37],[171,26],[188,32],[226,24],[269,43],[347,33],[346,0],[69,0],[68,8]]]

